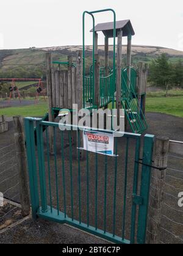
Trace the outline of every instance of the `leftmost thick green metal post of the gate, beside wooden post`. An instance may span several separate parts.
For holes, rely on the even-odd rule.
[[[27,164],[29,170],[30,199],[32,205],[32,218],[37,218],[37,210],[39,208],[37,166],[35,160],[35,138],[34,138],[34,119],[27,117],[24,119]]]

